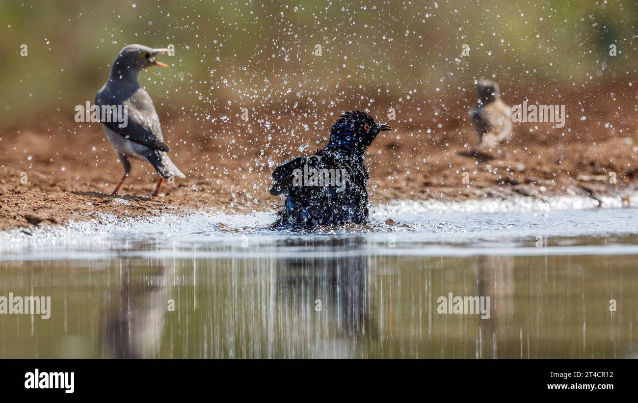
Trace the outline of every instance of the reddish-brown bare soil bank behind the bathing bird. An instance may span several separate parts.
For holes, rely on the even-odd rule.
[[[503,98],[510,105],[521,103],[524,97],[516,93],[521,99],[507,93]],[[599,89],[586,96],[562,94],[568,112],[565,128],[517,124],[512,142],[487,162],[457,154],[477,142],[466,119],[471,100],[450,97],[447,105],[455,106],[447,110],[427,100],[394,106],[396,121],[383,119],[391,105],[376,105],[371,115],[396,129],[383,133],[369,149],[371,202],[628,194],[638,187],[638,143],[631,138],[638,126],[637,94],[632,87]],[[530,103],[558,103],[553,92],[529,98]],[[346,107],[338,105],[332,112]],[[157,177],[149,164],[133,161],[132,175],[118,196],[128,204],[105,194],[122,168],[99,125],[77,124],[70,120],[73,114],[61,118],[58,113],[1,129],[0,230],[63,224],[94,218],[96,212],[138,217],[205,208],[274,209],[279,200],[268,193],[272,164],[321,147],[335,119],[318,111],[310,114],[313,117],[277,119],[268,110],[253,112],[255,123],[237,115],[211,123],[187,118],[181,111],[160,112],[172,159],[187,178],[165,183],[161,197],[142,197],[151,193]],[[586,120],[581,120],[583,115]],[[267,129],[259,122],[263,119],[274,122]],[[323,119],[327,123],[313,130]],[[304,130],[304,124],[311,128]],[[290,136],[291,130],[300,136]],[[300,152],[303,144],[309,146]],[[469,184],[463,183],[463,172],[469,172]],[[610,173],[616,175],[616,184],[609,183]]]

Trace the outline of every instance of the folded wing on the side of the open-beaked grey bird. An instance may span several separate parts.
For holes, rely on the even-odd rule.
[[[108,104],[106,99],[100,96],[101,92],[95,97],[95,105],[114,106]],[[120,127],[119,119],[114,115],[113,110],[108,110],[110,119],[104,114],[100,114],[101,122],[115,133],[138,144],[145,145],[152,150],[168,151],[170,150],[162,140],[161,126],[159,118],[152,105],[152,100],[146,91],[136,91],[131,98],[123,101],[122,106],[126,106],[126,113],[123,113],[126,119],[126,127]],[[110,120],[110,122],[107,122]]]

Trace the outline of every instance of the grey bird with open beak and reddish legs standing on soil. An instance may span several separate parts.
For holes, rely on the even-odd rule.
[[[113,195],[117,194],[131,172],[129,158],[148,161],[159,174],[157,186],[150,196],[159,194],[163,179],[184,178],[184,174],[168,157],[169,148],[164,143],[151,96],[137,81],[138,73],[147,67],[168,67],[168,64],[154,59],[156,55],[166,52],[168,49],[153,49],[144,45],[125,46],[115,58],[106,84],[95,96],[95,105],[102,111],[108,111],[100,114],[100,121],[108,141],[124,166],[124,176],[115,186]]]

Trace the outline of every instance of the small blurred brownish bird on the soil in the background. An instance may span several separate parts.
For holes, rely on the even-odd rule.
[[[479,149],[493,149],[507,143],[512,135],[512,108],[501,100],[498,84],[491,80],[477,83],[479,103],[471,109],[474,128],[479,135]]]

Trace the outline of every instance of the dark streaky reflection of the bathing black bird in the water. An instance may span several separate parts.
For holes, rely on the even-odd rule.
[[[331,348],[337,350],[375,337],[367,300],[368,257],[358,252],[363,244],[358,237],[289,238],[280,244],[297,251],[297,256],[281,260],[277,267],[281,303],[300,309],[304,316],[308,312],[302,320],[316,320],[319,324],[314,333],[327,335],[332,339]],[[319,348],[318,355],[330,356],[327,346]],[[334,354],[342,355],[338,351]]]

